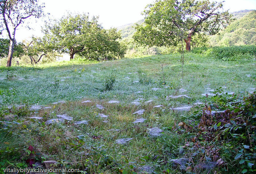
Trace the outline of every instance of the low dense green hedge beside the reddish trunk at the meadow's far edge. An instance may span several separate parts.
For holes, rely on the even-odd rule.
[[[221,60],[252,59],[256,56],[256,46],[201,47],[194,48],[192,52]]]

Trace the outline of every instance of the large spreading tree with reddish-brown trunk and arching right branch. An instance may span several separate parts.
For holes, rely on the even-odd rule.
[[[224,1],[223,1],[224,2]],[[180,40],[191,49],[191,38],[217,33],[231,20],[228,11],[221,11],[223,2],[209,0],[156,0],[147,5],[145,21],[136,26],[135,41],[149,46],[172,46]]]

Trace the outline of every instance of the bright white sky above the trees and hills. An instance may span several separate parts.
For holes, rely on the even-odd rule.
[[[44,12],[50,13],[51,19],[60,19],[67,12],[88,12],[90,16],[99,16],[99,23],[109,29],[143,19],[141,13],[147,4],[153,3],[154,0],[39,0],[39,2],[45,3]],[[226,0],[224,9],[229,9],[230,12],[256,9],[256,0]],[[20,26],[16,32],[16,40],[20,42],[32,35],[42,36],[41,26],[44,25],[44,20],[29,19],[33,29]]]

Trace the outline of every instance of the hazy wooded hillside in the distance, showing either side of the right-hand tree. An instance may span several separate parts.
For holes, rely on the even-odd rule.
[[[255,44],[256,37],[256,11],[255,10],[241,10],[232,13],[233,21],[226,29],[223,29],[214,36],[209,37],[211,46],[228,46],[228,45],[244,45]],[[144,19],[136,22],[142,24]],[[121,31],[123,40],[131,40],[135,33],[135,24],[126,24],[117,27]]]

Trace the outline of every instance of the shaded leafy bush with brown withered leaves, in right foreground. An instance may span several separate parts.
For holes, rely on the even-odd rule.
[[[189,139],[187,147],[182,147],[191,159],[186,170],[198,173],[218,166],[222,173],[255,172],[255,92],[247,96],[228,95],[220,87],[214,93],[210,106],[205,104],[202,113],[195,111],[193,122],[190,116],[176,129],[178,134],[186,134]]]

